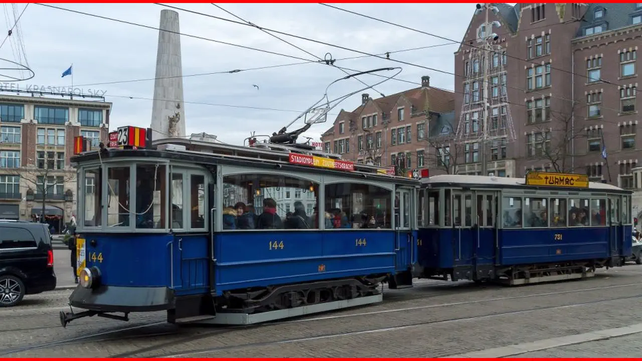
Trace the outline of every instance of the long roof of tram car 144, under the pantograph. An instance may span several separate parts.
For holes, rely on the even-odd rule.
[[[340,155],[327,154],[318,150],[309,150],[296,148],[293,146],[269,145],[269,146],[236,146],[223,143],[211,143],[209,141],[199,141],[195,139],[168,138],[159,139],[153,142],[154,146],[166,147],[165,149],[121,149],[121,148],[104,148],[92,150],[74,155],[71,158],[72,163],[95,162],[100,159],[107,161],[116,158],[149,158],[155,157],[160,159],[169,159],[172,161],[182,161],[185,163],[195,163],[204,165],[225,164],[233,166],[248,166],[251,168],[275,169],[277,166],[284,172],[297,173],[322,173],[331,174],[335,177],[360,178],[377,180],[404,185],[419,186],[417,179],[408,177],[399,177],[395,175],[382,174],[380,171],[385,167],[379,167],[369,164],[352,163],[353,171],[336,170],[332,168],[322,168],[317,166],[306,166],[292,164],[289,161],[290,154],[306,155],[308,157],[323,157],[324,159],[333,159],[342,161]],[[175,146],[182,146],[176,148]],[[100,157],[98,152],[101,152]]]

